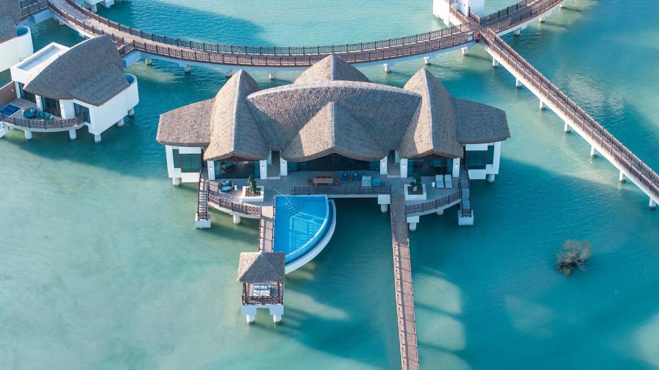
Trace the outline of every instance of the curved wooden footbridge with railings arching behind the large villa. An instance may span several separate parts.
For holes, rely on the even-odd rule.
[[[423,43],[439,38],[444,38],[446,36],[470,31],[468,24],[469,22],[467,19],[467,24],[456,25],[442,30],[434,30],[430,32],[425,32],[423,34],[414,34],[411,36],[403,36],[399,38],[388,38],[386,40],[369,41],[366,43],[322,45],[322,46],[296,46],[296,47],[223,45],[216,43],[203,43],[200,41],[191,41],[181,38],[172,38],[169,36],[153,34],[151,32],[146,32],[127,25],[122,25],[121,23],[104,18],[103,16],[91,12],[91,10],[83,8],[74,0],[65,0],[65,1],[71,7],[74,7],[79,12],[82,12],[86,16],[89,16],[89,18],[97,21],[98,23],[102,23],[103,25],[107,25],[108,27],[118,30],[120,32],[131,34],[132,36],[135,37],[144,38],[146,40],[153,41],[154,43],[163,43],[167,45],[172,45],[172,47],[183,47],[186,49],[206,51],[208,53],[250,54],[250,55],[263,54],[263,55],[275,55],[275,56],[342,54],[342,53],[353,53],[358,51],[373,51],[377,49],[385,49],[385,48],[399,47],[405,45],[414,45],[416,43]],[[52,8],[57,8],[56,5],[53,3],[50,3],[50,5]],[[462,15],[462,17],[464,17],[464,15]],[[73,18],[75,19],[75,17]],[[80,22],[85,23],[84,21],[80,21]],[[76,25],[77,24],[78,23],[76,23]],[[94,28],[93,25],[89,25],[89,26],[91,27],[91,29]]]

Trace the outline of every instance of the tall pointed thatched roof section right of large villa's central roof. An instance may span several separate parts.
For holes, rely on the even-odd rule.
[[[456,135],[456,117],[451,95],[427,69],[416,72],[404,87],[421,95],[416,113],[407,127],[399,154],[403,158],[428,155],[462,157],[462,145]]]

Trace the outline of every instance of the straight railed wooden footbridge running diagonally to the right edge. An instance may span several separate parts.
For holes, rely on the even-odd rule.
[[[575,125],[579,126],[586,135],[599,143],[600,150],[605,150],[610,156],[619,163],[629,174],[634,176],[636,181],[643,185],[651,194],[659,198],[659,175],[654,172],[645,162],[623,145],[616,137],[603,128],[601,124],[590,117],[583,111],[577,103],[572,101],[568,95],[563,93],[555,84],[540,73],[533,65],[530,65],[526,59],[517,53],[510,45],[505,43],[495,32],[488,29],[487,37],[482,38],[482,43],[487,45],[500,60],[506,62],[515,69],[517,73],[524,76],[530,84],[537,89],[541,95],[554,104],[563,115],[572,119]],[[527,82],[528,83],[528,82]]]

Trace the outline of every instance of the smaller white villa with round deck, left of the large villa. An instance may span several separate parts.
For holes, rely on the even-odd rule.
[[[68,131],[87,126],[94,141],[114,124],[124,125],[139,102],[137,78],[124,73],[109,36],[74,47],[51,43],[11,67],[12,82],[0,89],[0,137],[10,128],[25,132]]]

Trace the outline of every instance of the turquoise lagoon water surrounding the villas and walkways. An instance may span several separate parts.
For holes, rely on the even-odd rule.
[[[124,1],[111,12],[146,3]],[[356,31],[313,25],[300,32],[271,26],[276,16],[243,12],[236,19],[258,24],[256,36],[237,25],[209,40],[350,42],[431,28],[429,1],[373,5],[377,14],[342,4],[358,15]],[[300,14],[326,10],[298,5]],[[146,30],[203,37],[197,18],[161,22],[168,14],[185,19],[188,8],[165,9],[151,21],[126,16]],[[657,12],[650,0],[633,7],[577,0],[520,38],[506,37],[655,168],[659,30],[647,19]],[[387,34],[385,23],[397,17],[409,30]],[[34,31],[37,47],[80,41],[52,22]],[[402,86],[422,67],[418,60],[388,74],[363,71]],[[458,227],[458,211],[449,209],[423,216],[410,234],[423,368],[659,367],[659,212],[647,209],[634,185],[618,184],[611,165],[591,159],[582,139],[564,135],[562,122],[538,111],[537,99],[514,89],[478,47],[467,57],[445,54],[429,69],[453,95],[504,109],[512,137],[495,183],[473,184],[474,227]],[[104,132],[100,145],[85,129],[73,142],[65,133],[34,133],[28,142],[16,131],[0,140],[0,368],[398,367],[388,215],[373,200],[337,201],[330,244],[287,275],[283,325],[265,315],[245,325],[236,267],[240,251],[256,250],[258,225],[234,226],[214,213],[210,231],[194,230],[196,189],[171,186],[155,142],[159,113],[212,97],[225,77],[201,68],[186,75],[157,60],[128,71],[139,79],[136,116]],[[263,87],[297,75],[269,82],[254,73]],[[586,272],[564,277],[553,264],[569,238],[590,240],[594,255]]]

